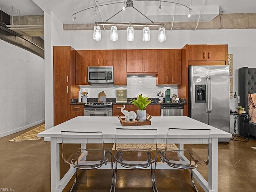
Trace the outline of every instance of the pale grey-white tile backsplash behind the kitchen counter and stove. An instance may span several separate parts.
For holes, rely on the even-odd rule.
[[[171,89],[171,95],[178,95],[177,85],[156,85],[156,77],[150,75],[128,75],[126,86],[114,84],[92,84],[92,86],[80,86],[81,91],[88,92],[88,98],[98,98],[99,92],[104,91],[106,98],[116,98],[116,89],[127,89],[127,98],[135,98],[138,94],[157,98],[158,91]]]

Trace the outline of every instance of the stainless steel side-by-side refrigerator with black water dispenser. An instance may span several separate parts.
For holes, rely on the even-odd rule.
[[[189,116],[230,132],[229,66],[190,66],[188,71]]]

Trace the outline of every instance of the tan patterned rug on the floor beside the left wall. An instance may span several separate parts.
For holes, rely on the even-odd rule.
[[[41,125],[39,127],[36,127],[16,138],[13,138],[9,141],[26,141],[26,140],[38,140],[38,139],[41,139],[40,137],[37,136],[38,133],[42,132],[45,130],[45,125]]]

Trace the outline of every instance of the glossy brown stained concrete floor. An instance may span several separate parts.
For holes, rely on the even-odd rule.
[[[0,190],[8,188],[15,192],[50,192],[50,142],[44,142],[43,139],[8,142],[35,127],[0,138]],[[256,138],[250,138],[249,142],[231,140],[229,144],[219,144],[219,192],[255,191],[256,150],[250,146],[256,146]],[[62,177],[68,165],[61,163],[60,170]],[[198,170],[207,176],[208,166],[202,165]],[[72,182],[64,192],[70,190]],[[110,183],[110,170],[79,171],[73,191],[105,192],[109,191]],[[149,170],[118,170],[117,192],[150,192],[150,184]],[[194,192],[187,170],[157,170],[156,184],[159,192]],[[198,190],[203,191],[200,187]]]

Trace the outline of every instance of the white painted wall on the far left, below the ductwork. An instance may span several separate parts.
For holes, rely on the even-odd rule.
[[[44,122],[44,59],[0,40],[0,137]]]

